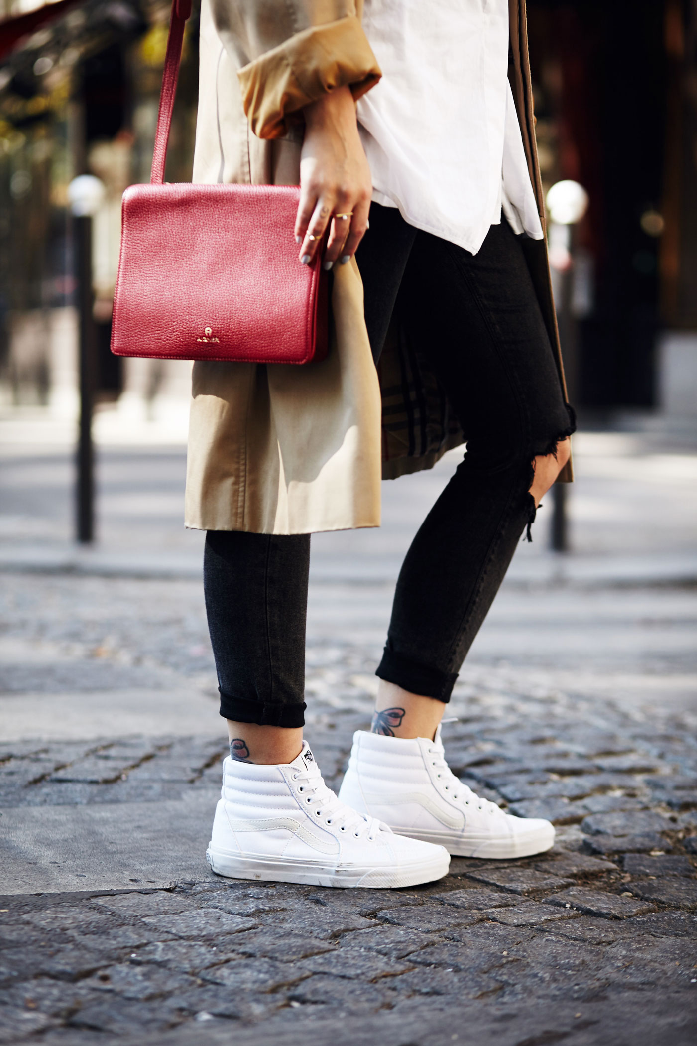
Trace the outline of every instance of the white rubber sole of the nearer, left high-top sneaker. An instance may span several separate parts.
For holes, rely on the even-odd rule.
[[[227,879],[262,880],[272,883],[302,883],[305,886],[354,886],[370,889],[397,889],[401,886],[417,886],[433,883],[447,874],[449,855],[437,854],[428,861],[420,861],[402,868],[335,867],[333,865],[305,864],[270,858],[240,857],[209,844],[206,860],[216,876]]]

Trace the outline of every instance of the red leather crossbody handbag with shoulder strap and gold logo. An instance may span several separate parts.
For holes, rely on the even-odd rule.
[[[327,351],[328,274],[298,260],[296,185],[165,184],[184,26],[173,0],[149,185],[123,194],[112,353],[308,363]]]

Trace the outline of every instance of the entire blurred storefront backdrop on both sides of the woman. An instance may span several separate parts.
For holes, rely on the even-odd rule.
[[[545,187],[574,179],[589,197],[572,251],[573,396],[695,419],[697,0],[528,0],[528,12]],[[168,17],[167,0],[0,0],[0,403],[74,412],[67,186],[86,172],[107,186],[94,221],[99,397],[142,414],[188,396],[188,365],[109,351],[120,196],[149,177]],[[194,15],[168,181],[191,177],[196,38]]]

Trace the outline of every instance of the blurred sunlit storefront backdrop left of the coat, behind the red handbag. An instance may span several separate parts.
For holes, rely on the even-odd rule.
[[[97,401],[143,416],[189,394],[189,365],[110,351],[111,309],[126,185],[149,180],[167,0],[74,0],[0,23],[0,403],[73,416],[77,315],[68,185],[104,184],[93,220]],[[19,40],[19,31],[24,29]],[[190,181],[198,24],[187,27],[167,180]],[[4,53],[3,53],[4,51]]]

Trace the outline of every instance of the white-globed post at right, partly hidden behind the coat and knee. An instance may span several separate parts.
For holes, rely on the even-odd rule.
[[[547,195],[547,206],[550,211],[550,265],[555,287],[557,319],[559,336],[564,355],[564,364],[568,371],[567,381],[572,399],[577,386],[576,345],[573,331],[571,309],[572,273],[574,257],[572,254],[572,227],[580,222],[588,206],[588,194],[578,182],[564,180],[556,182]],[[555,483],[552,494],[552,529],[550,544],[555,552],[568,551],[568,526],[566,517],[566,484]]]

